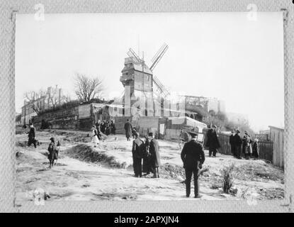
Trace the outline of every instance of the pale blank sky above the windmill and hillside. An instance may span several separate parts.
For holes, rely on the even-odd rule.
[[[106,98],[120,83],[129,48],[174,92],[217,97],[228,112],[247,114],[255,130],[283,126],[283,16],[258,13],[33,14],[16,18],[16,111],[23,93],[55,86],[73,94],[76,72],[103,79]]]

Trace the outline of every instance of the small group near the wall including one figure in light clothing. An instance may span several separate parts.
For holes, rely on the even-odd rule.
[[[116,128],[113,120],[111,120],[111,123],[98,120],[92,126],[92,143],[94,147],[99,144],[99,140],[103,140],[108,135],[115,135],[115,131]]]

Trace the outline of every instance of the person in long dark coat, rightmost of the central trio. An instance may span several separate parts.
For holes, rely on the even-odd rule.
[[[159,166],[162,165],[160,162],[159,155],[159,144],[158,141],[154,139],[153,133],[148,134],[149,138],[149,153],[150,153],[150,164],[153,172],[153,178],[159,178]]]

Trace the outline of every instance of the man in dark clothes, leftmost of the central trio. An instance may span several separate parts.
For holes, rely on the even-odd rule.
[[[136,133],[135,140],[132,141],[132,166],[134,167],[135,177],[142,177],[142,156],[144,149],[144,141],[140,139],[139,133]]]

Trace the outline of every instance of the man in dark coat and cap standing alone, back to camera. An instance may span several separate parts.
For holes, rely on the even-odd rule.
[[[191,178],[194,177],[194,195],[195,198],[200,198],[198,191],[198,172],[202,168],[205,161],[205,155],[201,143],[197,142],[197,134],[191,132],[192,139],[185,143],[181,151],[181,160],[186,172],[186,196],[190,196]]]

